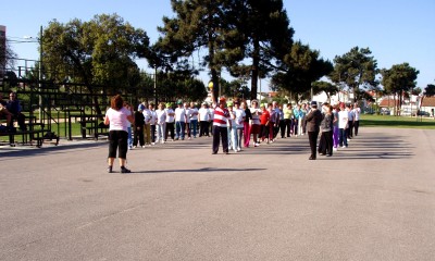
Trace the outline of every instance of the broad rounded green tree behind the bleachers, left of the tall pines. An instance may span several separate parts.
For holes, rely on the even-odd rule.
[[[70,77],[84,83],[89,94],[96,94],[101,85],[114,92],[140,83],[134,59],[149,53],[149,38],[116,14],[66,24],[54,20],[41,37],[46,77],[58,82]],[[95,105],[100,111],[97,97]]]

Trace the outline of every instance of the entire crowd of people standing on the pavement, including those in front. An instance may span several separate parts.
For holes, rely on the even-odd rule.
[[[318,109],[318,103],[313,101],[310,107],[301,104],[293,108],[287,104],[283,108],[275,101],[259,104],[252,100],[248,107],[245,101],[226,102],[225,98],[217,99],[211,108],[203,103],[198,109],[194,103],[182,101],[176,105],[173,109],[170,103],[166,108],[161,102],[154,110],[153,104],[140,103],[134,111],[121,96],[113,97],[104,120],[104,124],[110,126],[108,172],[113,170],[116,149],[121,172],[128,173],[130,171],[125,167],[126,152],[137,147],[138,142],[145,147],[165,144],[169,137],[175,141],[184,140],[186,136],[187,139],[196,138],[197,134],[198,137],[210,136],[210,123],[212,154],[219,152],[221,141],[223,152],[229,153],[229,150],[239,152],[243,147],[273,142],[278,134],[286,138],[308,133],[311,148],[309,159],[315,160],[318,152],[331,157],[338,147],[348,147],[348,140],[353,134],[358,135],[361,112],[357,104],[352,108],[345,103],[334,107],[323,103],[322,109]]]

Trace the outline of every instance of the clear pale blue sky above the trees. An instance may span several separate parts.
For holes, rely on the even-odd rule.
[[[284,0],[284,4],[295,40],[320,50],[323,58],[333,61],[352,47],[369,47],[380,69],[408,62],[420,71],[419,87],[435,84],[434,0]],[[169,0],[21,0],[3,1],[1,9],[0,25],[7,26],[9,39],[37,37],[39,27],[54,18],[66,23],[117,13],[145,29],[153,44],[162,16],[173,15]],[[12,47],[22,59],[38,59],[37,44]],[[208,76],[201,77],[206,80]]]

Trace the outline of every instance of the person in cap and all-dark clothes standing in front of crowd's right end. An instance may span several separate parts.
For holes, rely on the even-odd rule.
[[[304,120],[307,122],[308,139],[311,148],[311,156],[309,160],[315,160],[320,123],[322,122],[322,112],[318,110],[316,101],[311,101],[311,110],[306,115]]]

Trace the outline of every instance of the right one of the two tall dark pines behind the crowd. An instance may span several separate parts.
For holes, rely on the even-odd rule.
[[[231,29],[223,54],[231,64],[226,65],[233,76],[250,76],[250,98],[256,99],[259,77],[283,63],[291,48],[294,29],[282,0],[233,1],[228,17]],[[245,64],[247,58],[250,65]]]

